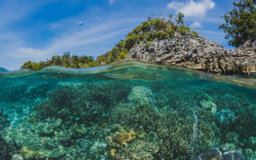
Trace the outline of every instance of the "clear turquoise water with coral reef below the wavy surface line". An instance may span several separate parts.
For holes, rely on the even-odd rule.
[[[1,68],[0,88],[0,159],[256,159],[253,77],[123,62]]]

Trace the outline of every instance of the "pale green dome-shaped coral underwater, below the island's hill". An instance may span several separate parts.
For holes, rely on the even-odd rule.
[[[143,86],[135,86],[131,89],[133,92],[128,95],[128,101],[130,103],[138,105],[154,105],[154,95],[151,89]]]

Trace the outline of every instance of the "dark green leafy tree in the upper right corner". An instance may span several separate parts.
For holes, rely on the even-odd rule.
[[[233,10],[221,17],[225,23],[219,29],[225,31],[229,45],[238,47],[256,37],[256,0],[239,0],[233,5]]]

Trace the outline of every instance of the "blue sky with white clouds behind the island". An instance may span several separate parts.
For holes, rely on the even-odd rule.
[[[147,17],[183,12],[186,25],[226,49],[220,18],[233,0],[1,0],[0,66],[18,70],[69,50],[104,54]],[[162,15],[160,15],[162,14]]]

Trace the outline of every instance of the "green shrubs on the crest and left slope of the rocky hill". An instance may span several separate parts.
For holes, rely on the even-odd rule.
[[[128,53],[136,44],[141,42],[146,43],[144,47],[151,45],[154,39],[171,39],[176,32],[182,35],[193,33],[197,36],[196,31],[190,31],[189,27],[184,26],[184,14],[178,14],[176,23],[171,22],[172,15],[169,15],[170,20],[166,21],[164,18],[148,18],[146,22],[134,28],[128,33],[125,40],[118,42],[118,44],[110,51],[110,62],[115,62]],[[120,56],[120,54],[122,54]]]

